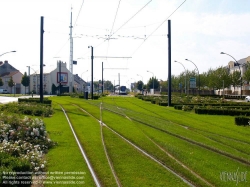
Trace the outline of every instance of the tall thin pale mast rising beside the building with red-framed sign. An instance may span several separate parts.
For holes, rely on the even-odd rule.
[[[69,71],[70,71],[70,82],[69,82],[69,93],[73,92],[73,37],[72,37],[72,8],[70,14],[70,57],[69,57]]]

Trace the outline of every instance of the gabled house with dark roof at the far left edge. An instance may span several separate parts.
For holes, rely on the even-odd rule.
[[[8,61],[0,62],[0,77],[3,81],[1,89],[6,89],[9,93],[24,94],[25,87],[21,84],[23,74],[8,63]],[[10,88],[8,82],[12,77],[15,86]]]

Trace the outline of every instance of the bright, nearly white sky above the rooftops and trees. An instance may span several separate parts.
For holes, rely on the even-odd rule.
[[[172,75],[195,66],[199,73],[250,56],[249,0],[0,0],[0,61],[21,73],[39,69],[40,19],[44,17],[44,72],[70,59],[73,25],[73,73],[128,86],[150,77],[168,78],[168,20],[171,20]],[[109,37],[110,36],[110,37]],[[116,57],[116,58],[111,58]],[[149,71],[149,72],[147,72]]]

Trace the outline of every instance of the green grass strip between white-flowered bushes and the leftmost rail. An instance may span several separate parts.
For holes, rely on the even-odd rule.
[[[57,104],[53,104],[55,114],[52,118],[44,118],[46,129],[50,138],[57,142],[58,145],[51,149],[46,155],[48,161],[48,172],[85,172],[84,182],[87,186],[94,186],[94,182],[76,144],[66,118]],[[50,174],[49,176],[56,176]],[[62,176],[62,175],[59,175]],[[72,176],[72,175],[70,175]],[[73,175],[82,176],[82,175]],[[57,180],[58,181],[58,180]],[[78,181],[78,180],[75,180]],[[46,182],[55,182],[55,180],[47,179]],[[45,186],[62,186],[62,184],[51,184]],[[72,186],[63,184],[63,186]],[[74,185],[82,186],[82,184]]]

